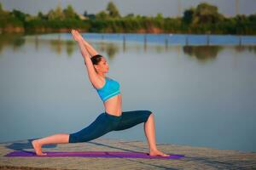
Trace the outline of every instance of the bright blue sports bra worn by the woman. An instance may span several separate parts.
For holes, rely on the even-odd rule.
[[[105,80],[105,84],[102,88],[96,88],[96,91],[100,95],[103,102],[117,94],[120,94],[119,82],[116,82],[108,77],[105,77]]]

